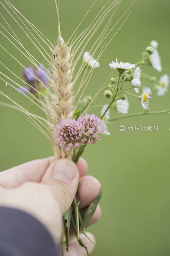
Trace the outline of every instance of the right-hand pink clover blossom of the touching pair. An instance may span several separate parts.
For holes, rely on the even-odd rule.
[[[95,144],[97,140],[101,140],[99,134],[104,132],[102,129],[103,124],[101,119],[94,114],[79,117],[78,123],[81,127],[80,136],[83,137],[83,141],[87,141]]]

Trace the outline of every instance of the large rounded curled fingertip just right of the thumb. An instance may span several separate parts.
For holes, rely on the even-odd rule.
[[[92,176],[83,176],[80,178],[81,184],[78,188],[78,198],[80,201],[80,209],[84,208],[94,201],[99,195],[101,184]]]

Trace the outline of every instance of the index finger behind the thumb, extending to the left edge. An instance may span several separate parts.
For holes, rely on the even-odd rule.
[[[13,188],[27,181],[40,182],[49,165],[55,159],[55,156],[50,156],[33,160],[0,172],[0,186],[3,188]]]

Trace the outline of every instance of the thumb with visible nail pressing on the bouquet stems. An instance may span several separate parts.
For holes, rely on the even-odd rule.
[[[77,192],[79,172],[77,165],[69,159],[58,159],[52,163],[41,183],[47,185],[53,192],[61,207],[62,214],[70,208]]]

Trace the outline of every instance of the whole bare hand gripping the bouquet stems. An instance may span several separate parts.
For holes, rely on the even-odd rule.
[[[57,242],[62,233],[62,216],[72,204],[78,182],[81,181],[78,189],[80,208],[92,204],[99,194],[99,181],[86,176],[87,171],[88,166],[83,158],[76,165],[71,160],[56,160],[53,156],[0,172],[0,205],[29,212],[48,228]],[[100,215],[98,205],[90,225],[99,220]],[[87,234],[95,243],[94,236],[88,232]],[[81,239],[91,253],[94,245],[84,235],[81,235]],[[64,249],[64,253],[66,256],[77,255],[76,238],[70,242],[69,252]],[[79,246],[78,254],[86,255],[85,249]]]

